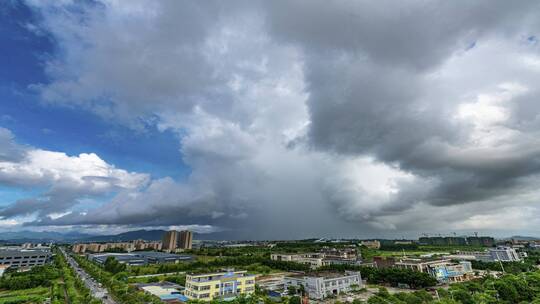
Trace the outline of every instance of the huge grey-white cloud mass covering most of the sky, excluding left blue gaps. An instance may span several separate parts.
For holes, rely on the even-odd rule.
[[[50,103],[177,132],[192,174],[30,225],[264,238],[540,214],[536,2],[100,2],[77,18],[32,4],[62,50],[35,87]],[[114,178],[103,182],[127,177]]]

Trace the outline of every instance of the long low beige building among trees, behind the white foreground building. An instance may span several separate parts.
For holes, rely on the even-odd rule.
[[[333,264],[356,265],[362,262],[354,248],[325,248],[314,253],[273,253],[270,258],[274,261],[295,262],[307,264],[312,269]]]

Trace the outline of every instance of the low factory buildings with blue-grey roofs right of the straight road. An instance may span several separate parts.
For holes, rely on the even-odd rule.
[[[164,264],[164,263],[179,263],[190,262],[193,257],[190,255],[179,255],[157,251],[136,251],[131,253],[93,253],[88,254],[87,258],[100,265],[105,264],[107,258],[113,257],[119,263],[130,266],[143,266],[148,264]]]

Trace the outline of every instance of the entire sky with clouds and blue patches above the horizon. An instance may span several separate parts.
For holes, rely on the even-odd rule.
[[[540,236],[537,1],[0,3],[0,232]]]

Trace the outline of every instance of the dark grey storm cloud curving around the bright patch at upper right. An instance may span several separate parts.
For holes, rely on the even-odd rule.
[[[277,1],[269,5],[268,22],[277,37],[301,47],[307,58],[309,139],[317,149],[372,155],[436,181],[430,191],[409,195],[405,206],[404,198],[396,197],[401,203],[388,206],[395,211],[421,201],[452,205],[490,199],[521,189],[523,179],[539,173],[536,142],[516,137],[504,147],[483,148],[467,142],[471,126],[453,116],[460,94],[479,88],[462,85],[453,96],[442,96],[448,92],[437,92],[441,83],[434,80],[446,61],[476,41],[535,33],[538,11],[534,2]],[[527,77],[504,76],[533,84]],[[530,107],[534,100],[527,94],[514,107]],[[526,123],[517,111],[511,117]]]

